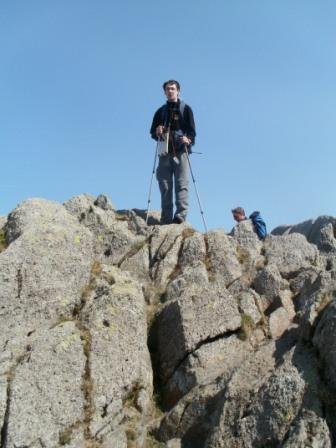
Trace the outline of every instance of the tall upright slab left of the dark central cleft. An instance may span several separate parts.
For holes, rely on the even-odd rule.
[[[139,437],[151,410],[153,382],[141,287],[127,273],[102,266],[78,319],[90,352],[91,434],[109,441],[126,419]]]

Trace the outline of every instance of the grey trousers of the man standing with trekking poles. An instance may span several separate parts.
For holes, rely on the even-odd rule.
[[[173,180],[176,205],[174,220],[183,222],[188,213],[188,156],[182,152],[177,158],[179,163],[174,161],[171,154],[159,157],[156,178],[161,192],[161,224],[173,222]]]

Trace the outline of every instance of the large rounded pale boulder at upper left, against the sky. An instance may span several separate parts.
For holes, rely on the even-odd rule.
[[[0,356],[8,370],[30,335],[71,318],[90,278],[92,234],[59,204],[31,199],[8,217],[0,253]]]

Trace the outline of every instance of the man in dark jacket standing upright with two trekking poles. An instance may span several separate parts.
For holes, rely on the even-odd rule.
[[[167,102],[154,114],[151,136],[168,138],[168,151],[159,155],[156,177],[161,192],[161,224],[181,224],[188,213],[188,153],[195,143],[196,129],[191,107],[180,100],[180,84],[163,84]],[[176,211],[173,214],[173,181]]]

